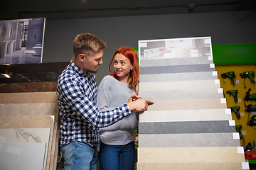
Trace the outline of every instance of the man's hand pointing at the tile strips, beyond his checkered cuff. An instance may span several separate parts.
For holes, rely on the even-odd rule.
[[[135,100],[135,101],[134,101]],[[128,106],[131,111],[144,112],[147,110],[148,106],[154,104],[154,101],[149,99],[141,98],[137,94],[132,94],[129,97]]]

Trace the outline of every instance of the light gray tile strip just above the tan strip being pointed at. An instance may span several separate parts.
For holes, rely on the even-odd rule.
[[[184,89],[184,90],[161,90],[161,91],[139,91],[142,98],[151,100],[174,100],[195,98],[223,98],[223,93],[218,89]]]

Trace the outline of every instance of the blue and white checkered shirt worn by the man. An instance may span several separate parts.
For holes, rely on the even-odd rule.
[[[82,72],[73,61],[58,77],[57,95],[61,118],[60,146],[79,141],[97,147],[98,128],[111,125],[131,113],[127,103],[112,111],[98,111],[95,74]]]

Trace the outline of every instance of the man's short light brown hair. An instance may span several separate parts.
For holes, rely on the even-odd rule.
[[[74,56],[85,54],[86,57],[90,57],[95,52],[105,49],[105,42],[102,42],[100,38],[91,33],[80,33],[73,41]]]

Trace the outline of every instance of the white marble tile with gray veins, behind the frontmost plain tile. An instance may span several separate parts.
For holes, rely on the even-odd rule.
[[[43,169],[46,169],[50,128],[0,129],[0,143],[46,143]]]

